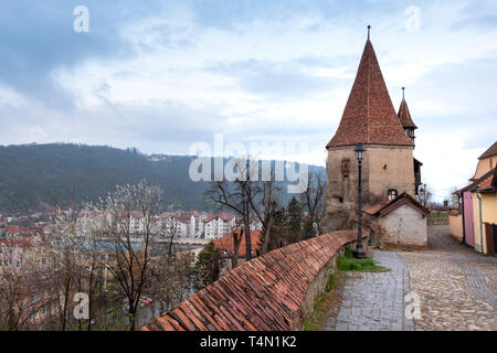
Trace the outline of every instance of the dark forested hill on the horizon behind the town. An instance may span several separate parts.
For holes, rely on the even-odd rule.
[[[96,201],[116,185],[141,179],[165,190],[162,208],[210,211],[203,192],[209,182],[193,182],[189,168],[197,157],[140,153],[137,149],[68,143],[0,146],[0,211],[29,212],[45,202],[67,205]],[[309,165],[309,170],[322,170]],[[286,203],[292,195],[282,195]]]

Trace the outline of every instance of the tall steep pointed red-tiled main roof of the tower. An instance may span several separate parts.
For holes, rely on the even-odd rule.
[[[359,142],[413,146],[395,114],[369,39],[340,125],[326,147]]]

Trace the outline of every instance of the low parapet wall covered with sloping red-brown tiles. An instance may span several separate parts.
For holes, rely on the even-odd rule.
[[[337,255],[356,238],[357,231],[337,231],[254,258],[142,330],[300,330],[336,269]]]

